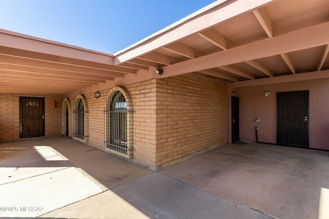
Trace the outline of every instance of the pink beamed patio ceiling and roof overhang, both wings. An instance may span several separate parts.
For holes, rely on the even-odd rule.
[[[327,77],[328,35],[327,0],[217,1],[114,55],[0,30],[0,92],[81,93],[190,72],[231,87]]]

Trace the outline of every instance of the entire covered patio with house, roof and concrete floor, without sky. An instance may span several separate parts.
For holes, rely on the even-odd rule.
[[[316,218],[328,36],[327,0],[218,0],[115,54],[0,29],[0,216]]]

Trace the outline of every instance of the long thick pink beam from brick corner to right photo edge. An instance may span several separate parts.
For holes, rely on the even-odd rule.
[[[329,22],[163,67],[169,77],[329,44]]]

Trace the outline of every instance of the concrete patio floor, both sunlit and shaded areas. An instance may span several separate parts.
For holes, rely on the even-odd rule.
[[[317,218],[329,152],[227,144],[153,172],[67,137],[0,144],[2,218]]]

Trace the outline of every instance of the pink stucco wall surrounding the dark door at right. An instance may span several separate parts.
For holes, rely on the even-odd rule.
[[[267,89],[266,89],[267,88]],[[276,92],[309,90],[309,147],[329,150],[329,79],[239,88],[240,140],[276,143]],[[262,91],[270,91],[267,97]],[[255,122],[259,117],[260,122]]]

